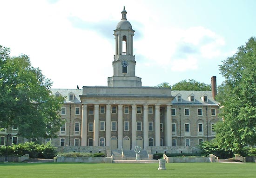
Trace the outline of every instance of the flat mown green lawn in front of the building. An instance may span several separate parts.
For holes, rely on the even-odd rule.
[[[0,178],[255,178],[255,163],[5,163]]]

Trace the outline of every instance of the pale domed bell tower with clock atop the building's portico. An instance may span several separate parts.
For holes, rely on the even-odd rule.
[[[113,76],[108,77],[108,87],[141,87],[141,78],[135,76],[135,56],[133,55],[132,25],[126,19],[126,10],[123,7],[122,19],[116,25],[115,55],[113,65]]]

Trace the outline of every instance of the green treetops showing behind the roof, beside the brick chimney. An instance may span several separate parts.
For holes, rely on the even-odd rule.
[[[189,82],[187,82],[186,80],[182,80],[179,83],[176,83],[174,85],[170,85],[167,82],[158,84],[155,87],[159,87],[159,88],[171,88],[172,90],[186,90],[186,91],[209,91],[211,90],[211,86],[207,85],[205,83],[200,83],[200,82],[196,82],[195,80],[191,80],[189,79]]]

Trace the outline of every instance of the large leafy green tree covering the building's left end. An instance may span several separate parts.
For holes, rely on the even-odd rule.
[[[18,127],[25,138],[53,138],[62,125],[63,97],[51,95],[51,81],[29,57],[10,57],[0,46],[0,127]]]

